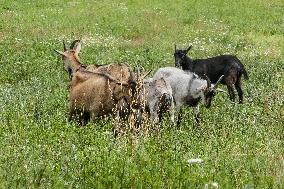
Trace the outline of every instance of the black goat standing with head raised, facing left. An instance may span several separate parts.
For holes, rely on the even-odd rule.
[[[239,103],[242,103],[243,91],[241,88],[241,76],[244,75],[244,78],[247,80],[248,74],[241,61],[233,55],[220,55],[207,59],[192,60],[187,56],[191,48],[192,45],[186,50],[181,50],[177,49],[177,45],[175,45],[175,66],[182,67],[185,71],[194,72],[204,79],[208,76],[212,83],[216,83],[218,79],[224,75],[221,83],[227,85],[230,99],[235,101],[233,88],[233,85],[235,85],[239,96]]]

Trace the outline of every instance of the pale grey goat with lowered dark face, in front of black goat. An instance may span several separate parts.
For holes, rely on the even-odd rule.
[[[175,108],[178,112],[177,125],[179,125],[181,121],[180,109],[185,105],[193,107],[195,120],[199,123],[199,101],[202,100],[205,107],[209,108],[217,86],[223,77],[221,76],[214,85],[208,78],[206,80],[201,79],[192,72],[185,72],[175,67],[164,67],[158,69],[153,79],[164,78],[170,84]]]

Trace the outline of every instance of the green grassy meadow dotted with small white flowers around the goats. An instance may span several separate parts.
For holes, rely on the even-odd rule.
[[[114,140],[112,121],[68,123],[67,73],[53,49],[81,38],[85,64],[173,66],[235,54],[245,103],[218,94],[201,127]],[[284,188],[284,2],[0,1],[0,188]],[[222,86],[223,89],[226,89]],[[189,164],[201,158],[201,164]]]

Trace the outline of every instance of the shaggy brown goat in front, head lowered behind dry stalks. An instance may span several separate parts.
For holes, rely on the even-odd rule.
[[[69,95],[69,119],[81,125],[105,115],[128,115],[131,87],[112,76],[89,71],[73,74]],[[124,117],[125,118],[125,117]]]

